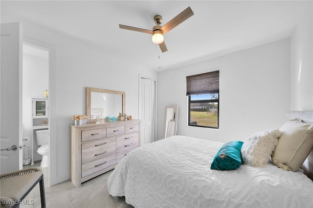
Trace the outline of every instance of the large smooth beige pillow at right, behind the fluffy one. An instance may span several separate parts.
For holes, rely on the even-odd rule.
[[[297,171],[313,148],[313,125],[298,119],[286,122],[272,155],[272,163],[283,170]]]

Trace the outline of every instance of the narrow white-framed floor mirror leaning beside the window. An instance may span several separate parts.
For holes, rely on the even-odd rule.
[[[164,138],[177,133],[178,106],[165,106]]]

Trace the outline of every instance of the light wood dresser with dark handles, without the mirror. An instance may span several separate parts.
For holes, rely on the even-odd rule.
[[[140,146],[139,120],[70,126],[70,179],[75,187],[115,168]]]

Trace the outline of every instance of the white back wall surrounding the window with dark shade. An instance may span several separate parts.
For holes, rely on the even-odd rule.
[[[220,129],[191,127],[186,76],[220,70]],[[246,136],[279,128],[290,108],[290,39],[268,43],[202,62],[159,72],[158,123],[166,105],[178,105],[178,134],[213,141],[244,141]],[[159,128],[158,139],[163,129]]]

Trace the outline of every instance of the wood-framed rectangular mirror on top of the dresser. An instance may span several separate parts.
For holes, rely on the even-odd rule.
[[[86,87],[86,114],[88,123],[100,118],[117,117],[125,112],[125,92]]]

